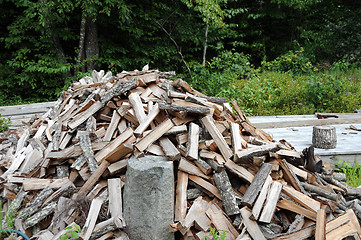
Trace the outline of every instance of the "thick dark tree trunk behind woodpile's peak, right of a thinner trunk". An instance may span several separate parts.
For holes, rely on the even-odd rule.
[[[87,58],[87,71],[89,72],[96,68],[93,58],[99,56],[97,25],[93,18],[86,18],[85,29],[85,57]]]

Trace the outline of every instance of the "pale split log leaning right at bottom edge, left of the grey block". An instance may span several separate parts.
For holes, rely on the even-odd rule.
[[[89,240],[89,238],[93,232],[93,229],[95,227],[96,221],[98,219],[100,208],[101,208],[103,202],[104,202],[104,200],[101,198],[93,199],[93,201],[90,205],[88,217],[87,217],[85,224],[82,228],[82,231],[79,235],[83,240]]]

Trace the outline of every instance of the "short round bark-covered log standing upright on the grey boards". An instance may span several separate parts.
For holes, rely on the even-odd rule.
[[[336,128],[330,126],[314,126],[312,134],[312,144],[316,148],[336,148]]]

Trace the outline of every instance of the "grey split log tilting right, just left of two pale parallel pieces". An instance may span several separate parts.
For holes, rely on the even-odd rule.
[[[251,207],[256,200],[259,192],[262,189],[266,178],[269,176],[272,169],[272,164],[264,163],[254,176],[251,185],[247,188],[246,193],[242,198],[242,204]]]

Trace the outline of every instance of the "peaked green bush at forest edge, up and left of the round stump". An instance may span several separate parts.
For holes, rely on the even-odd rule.
[[[290,71],[293,75],[312,74],[318,70],[312,65],[310,59],[305,56],[303,47],[296,51],[291,50],[271,62],[263,62],[262,67],[264,70],[270,71]]]

